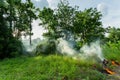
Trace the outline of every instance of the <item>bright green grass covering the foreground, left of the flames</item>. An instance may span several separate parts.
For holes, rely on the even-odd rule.
[[[106,80],[93,64],[57,55],[4,59],[0,61],[0,80]]]

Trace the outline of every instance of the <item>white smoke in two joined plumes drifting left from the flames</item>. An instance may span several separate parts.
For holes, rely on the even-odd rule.
[[[104,60],[99,41],[90,43],[90,45],[86,44],[80,49],[80,51],[76,51],[74,49],[74,43],[71,43],[69,41],[66,41],[66,40],[60,38],[59,44],[57,46],[57,50],[61,54],[71,56],[74,59],[88,59],[88,58],[92,59],[92,58],[94,58],[94,59],[98,59],[100,61]]]

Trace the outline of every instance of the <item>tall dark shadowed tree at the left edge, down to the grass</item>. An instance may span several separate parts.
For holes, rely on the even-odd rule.
[[[22,51],[22,44],[13,37],[8,24],[8,5],[3,2],[0,5],[0,59],[17,56]],[[18,53],[17,53],[18,52]]]

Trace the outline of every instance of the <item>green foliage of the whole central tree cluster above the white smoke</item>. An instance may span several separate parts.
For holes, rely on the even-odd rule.
[[[78,42],[78,48],[85,43],[104,39],[101,16],[96,8],[80,11],[78,7],[70,6],[67,0],[61,1],[55,10],[44,8],[39,13],[41,25],[47,30],[45,37],[73,39]]]

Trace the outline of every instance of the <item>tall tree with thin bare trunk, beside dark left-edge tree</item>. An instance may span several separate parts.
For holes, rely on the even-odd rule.
[[[21,32],[24,32],[25,35],[30,36],[31,44],[31,35],[32,31],[32,21],[37,19],[37,8],[33,5],[31,0],[26,0],[25,3],[20,3],[16,6],[17,21],[15,22],[15,30],[17,30],[16,37],[18,39],[21,37]]]

